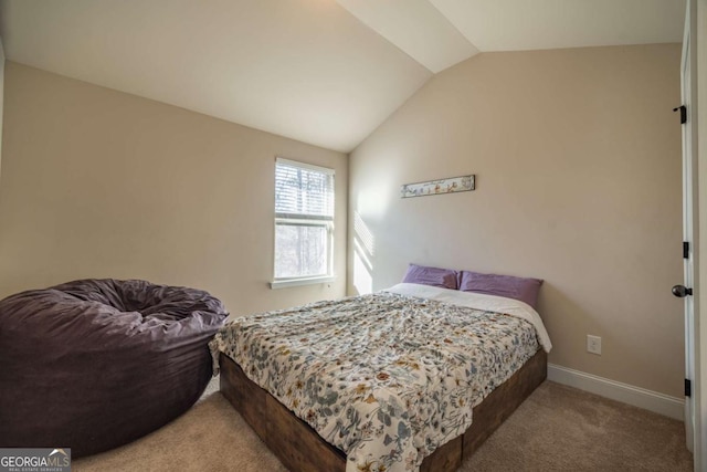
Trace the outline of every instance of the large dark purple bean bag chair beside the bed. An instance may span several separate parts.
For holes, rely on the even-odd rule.
[[[88,455],[175,419],[211,377],[228,316],[209,293],[82,280],[0,301],[0,447]]]

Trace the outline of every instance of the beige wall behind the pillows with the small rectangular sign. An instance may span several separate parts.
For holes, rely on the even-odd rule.
[[[374,290],[409,262],[541,277],[550,363],[682,397],[679,61],[678,44],[485,53],[435,76],[350,156],[349,292],[368,231]],[[475,191],[399,197],[464,174]]]

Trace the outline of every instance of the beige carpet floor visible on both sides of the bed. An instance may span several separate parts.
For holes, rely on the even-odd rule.
[[[160,430],[73,461],[88,471],[285,471],[211,382]],[[460,469],[471,471],[692,471],[679,421],[544,382]]]

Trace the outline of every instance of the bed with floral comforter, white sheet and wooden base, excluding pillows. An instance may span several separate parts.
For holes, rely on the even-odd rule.
[[[452,471],[546,378],[515,300],[411,283],[236,318],[221,390],[294,471]]]

